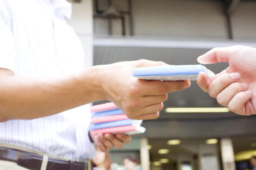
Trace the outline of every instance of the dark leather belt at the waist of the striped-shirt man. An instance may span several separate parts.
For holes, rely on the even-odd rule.
[[[23,150],[0,147],[0,160],[15,162],[19,166],[31,170],[40,170],[43,156]],[[89,170],[89,161],[63,161],[49,157],[46,170]]]

